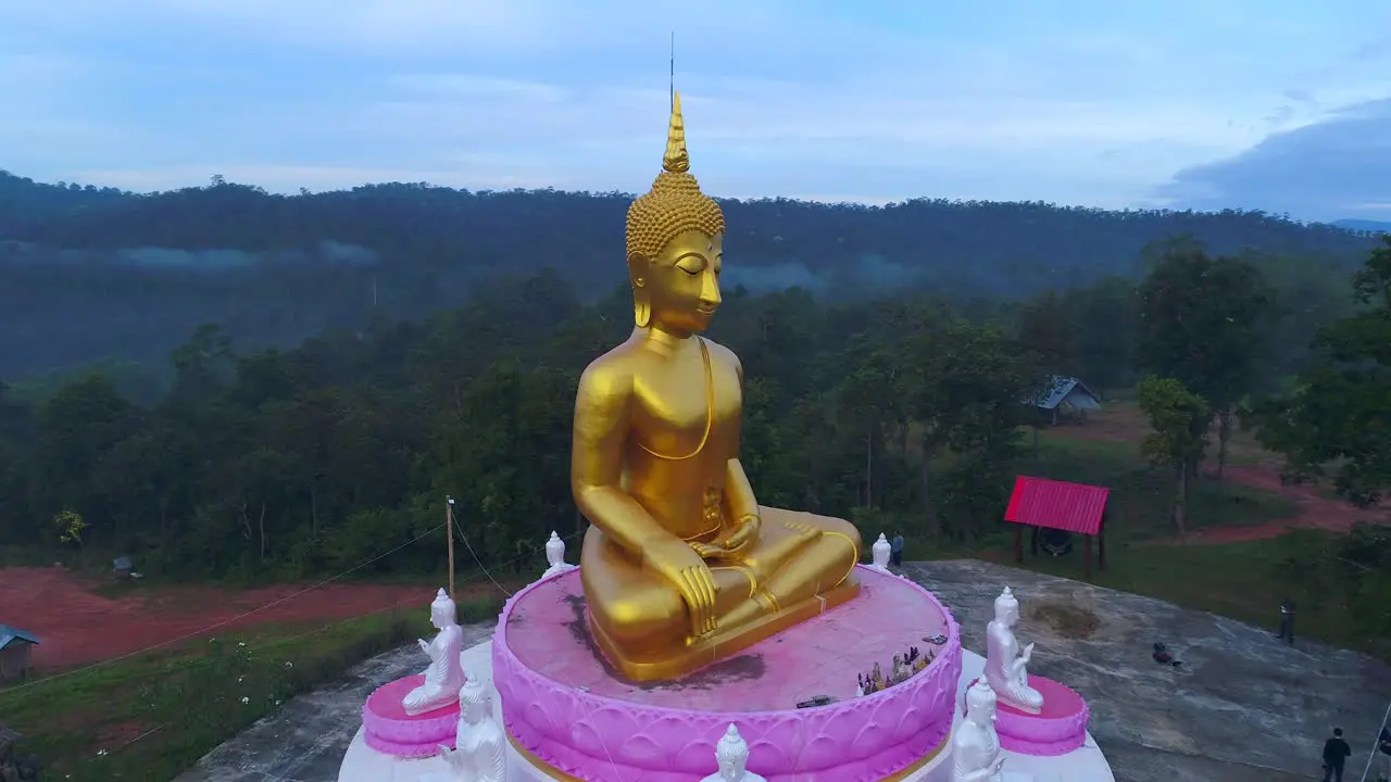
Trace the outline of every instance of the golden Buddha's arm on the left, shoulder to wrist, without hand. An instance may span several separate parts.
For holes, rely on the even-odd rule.
[[[633,380],[608,367],[584,370],[574,398],[570,491],[584,518],[623,550],[641,557],[648,541],[672,537],[623,491],[623,437]]]

